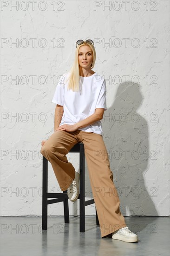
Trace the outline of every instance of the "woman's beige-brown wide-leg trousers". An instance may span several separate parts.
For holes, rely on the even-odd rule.
[[[40,153],[51,162],[59,187],[65,191],[75,177],[75,168],[66,154],[78,142],[84,144],[101,237],[104,237],[125,227],[126,223],[119,209],[120,201],[102,135],[78,129],[74,132],[58,130],[48,138]]]

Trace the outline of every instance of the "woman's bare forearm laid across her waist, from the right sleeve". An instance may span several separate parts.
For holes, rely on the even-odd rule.
[[[74,124],[75,128],[76,129],[84,128],[86,126],[91,125],[92,123],[94,123],[96,121],[103,119],[104,111],[105,111],[105,108],[96,108],[94,114],[88,116],[84,120],[79,121],[78,123],[75,123]]]

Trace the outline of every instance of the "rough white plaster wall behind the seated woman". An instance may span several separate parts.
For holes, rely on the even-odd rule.
[[[1,216],[42,213],[41,141],[53,133],[52,97],[78,39],[96,42],[93,70],[106,79],[103,138],[122,214],[168,216],[169,1],[46,1],[44,11],[24,2],[1,1]],[[67,157],[78,168],[78,153]],[[92,198],[87,166],[85,183]],[[48,184],[60,191],[50,163]],[[69,204],[79,214],[79,200]],[[63,204],[48,214],[63,215]]]

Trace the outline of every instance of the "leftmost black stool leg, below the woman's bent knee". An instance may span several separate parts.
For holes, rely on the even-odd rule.
[[[43,156],[43,171],[42,171],[42,229],[47,229],[47,209],[48,204],[46,197],[48,191],[48,160]]]

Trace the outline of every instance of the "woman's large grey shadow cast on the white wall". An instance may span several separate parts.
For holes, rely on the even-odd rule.
[[[148,158],[156,161],[155,151],[150,151],[146,118],[137,113],[143,96],[140,85],[131,82],[118,87],[115,100],[103,116],[103,139],[109,154],[114,184],[124,216],[157,216],[152,198],[156,187],[145,186],[144,174]]]

